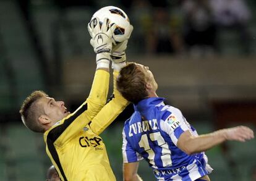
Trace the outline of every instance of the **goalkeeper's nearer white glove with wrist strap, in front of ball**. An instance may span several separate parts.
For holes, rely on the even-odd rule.
[[[92,19],[92,21],[88,23],[88,32],[92,36],[90,44],[92,44],[93,50],[96,53],[97,69],[109,69],[110,53],[112,50],[111,37],[115,28],[115,24],[109,27],[108,19],[104,19],[102,25],[100,25],[98,18]]]

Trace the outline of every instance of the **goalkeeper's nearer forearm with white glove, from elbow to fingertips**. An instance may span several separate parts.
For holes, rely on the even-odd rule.
[[[115,25],[109,28],[109,22],[104,20],[100,25],[100,20],[95,18],[88,23],[88,32],[92,36],[90,44],[96,53],[96,72],[93,80],[90,95],[87,98],[87,103],[90,105],[93,117],[106,104],[109,86],[109,64],[111,61],[112,50],[112,32]]]

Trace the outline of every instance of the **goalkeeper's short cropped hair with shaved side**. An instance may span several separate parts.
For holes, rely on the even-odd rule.
[[[41,127],[38,122],[38,118],[43,115],[43,107],[36,104],[40,98],[47,96],[43,91],[33,91],[26,99],[23,101],[20,107],[20,115],[23,124],[28,127],[33,132],[45,132],[45,129]]]

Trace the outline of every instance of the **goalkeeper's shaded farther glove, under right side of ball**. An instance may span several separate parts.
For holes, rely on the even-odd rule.
[[[126,48],[127,48],[127,43],[130,38],[130,35],[132,33],[132,30],[134,27],[130,25],[130,28],[126,28],[130,32],[126,36],[126,40],[122,41],[121,43],[115,43],[113,42],[113,49],[111,51],[111,57],[112,61],[116,64],[126,62]]]

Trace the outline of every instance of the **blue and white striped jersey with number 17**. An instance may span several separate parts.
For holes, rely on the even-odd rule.
[[[124,163],[145,159],[158,180],[196,180],[211,172],[205,153],[188,155],[177,148],[183,132],[196,130],[179,109],[165,105],[164,98],[147,98],[134,105],[125,122],[122,154]]]

